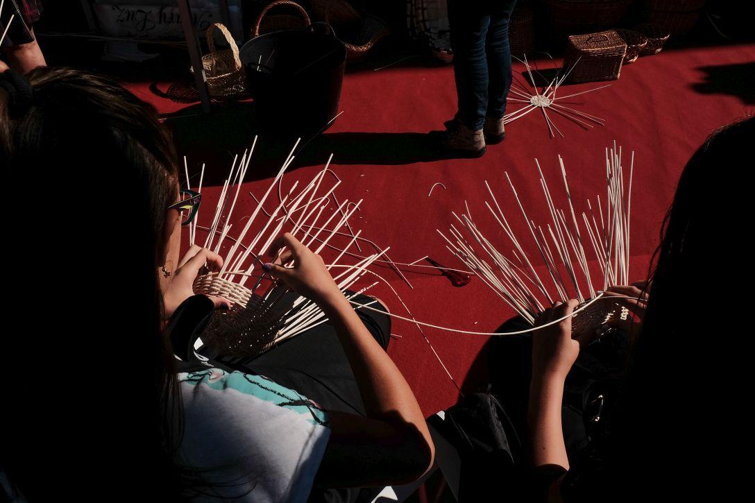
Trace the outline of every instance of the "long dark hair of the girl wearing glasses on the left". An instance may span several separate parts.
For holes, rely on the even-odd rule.
[[[180,403],[157,276],[177,193],[153,107],[103,76],[39,68],[0,89],[6,243],[0,467],[32,501],[173,501]],[[100,492],[102,491],[107,492]]]

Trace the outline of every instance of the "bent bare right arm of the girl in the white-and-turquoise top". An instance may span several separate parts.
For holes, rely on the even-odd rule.
[[[374,340],[331,278],[322,258],[286,233],[271,249],[288,248],[270,273],[315,301],[331,320],[354,372],[366,418],[330,412],[331,439],[318,472],[321,486],[364,486],[416,480],[433,464],[422,411],[393,360]]]

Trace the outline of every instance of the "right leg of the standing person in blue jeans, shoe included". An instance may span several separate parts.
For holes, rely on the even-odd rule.
[[[509,20],[516,0],[498,0],[490,16],[485,44],[488,58],[488,108],[485,113],[485,142],[500,143],[506,136],[504,115],[511,88]]]

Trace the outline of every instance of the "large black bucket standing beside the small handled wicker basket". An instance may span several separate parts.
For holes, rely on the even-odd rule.
[[[241,48],[260,130],[324,131],[338,113],[346,47],[314,26],[260,35]]]

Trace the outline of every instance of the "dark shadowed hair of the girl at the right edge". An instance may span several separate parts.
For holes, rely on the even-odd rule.
[[[623,467],[614,487],[624,501],[725,501],[744,486],[729,483],[736,471],[727,449],[750,431],[740,421],[751,394],[752,329],[738,311],[752,277],[743,241],[752,225],[741,208],[751,198],[753,143],[753,118],[715,131],[689,159],[664,219],[618,409],[612,461]]]

